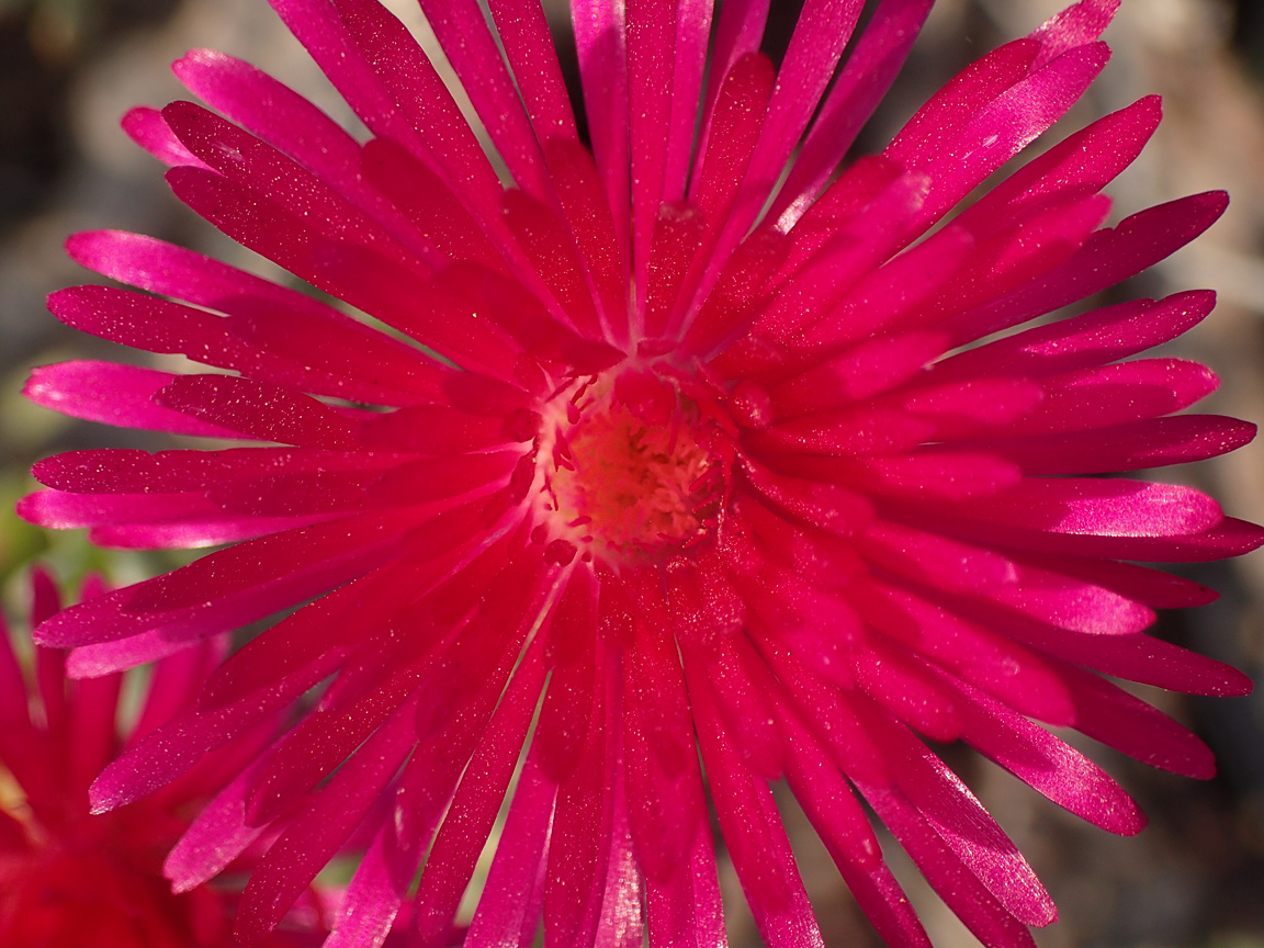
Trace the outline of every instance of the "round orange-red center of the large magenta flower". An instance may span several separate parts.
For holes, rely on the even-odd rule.
[[[580,550],[614,562],[689,546],[705,532],[719,480],[695,439],[696,411],[666,387],[657,403],[631,407],[607,388],[578,399],[561,428],[557,521]]]

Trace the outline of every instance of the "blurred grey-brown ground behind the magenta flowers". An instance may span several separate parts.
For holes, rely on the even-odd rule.
[[[415,4],[392,0],[423,30]],[[564,4],[546,4],[559,35]],[[774,3],[766,46],[775,57],[800,4]],[[1060,6],[1057,0],[940,0],[901,80],[858,145],[880,149],[947,78]],[[1222,387],[1201,408],[1264,421],[1264,4],[1260,0],[1125,0],[1106,38],[1115,58],[1088,96],[1057,126],[1048,147],[1098,115],[1149,92],[1165,120],[1141,158],[1116,182],[1116,219],[1153,204],[1225,188],[1232,204],[1196,244],[1114,292],[1110,301],[1191,287],[1220,292],[1220,305],[1176,354],[1211,365]],[[565,40],[564,40],[565,42]],[[161,166],[119,130],[133,105],[183,97],[168,64],[188,48],[249,59],[308,94],[350,126],[345,106],[264,0],[0,0],[0,590],[21,608],[19,581],[32,557],[63,576],[104,569],[118,583],[169,569],[171,555],[91,550],[77,532],[48,536],[20,522],[13,503],[34,487],[33,460],[92,446],[171,446],[138,432],[85,425],[20,397],[32,365],[66,358],[139,358],[81,336],[43,306],[58,287],[88,274],[61,250],[91,228],[139,230],[215,253],[265,274],[272,264],[236,248],[167,192]],[[1168,469],[1211,490],[1230,513],[1264,521],[1264,446],[1216,461]],[[1160,635],[1248,670],[1264,670],[1264,551],[1189,575],[1221,590],[1218,603],[1165,616]],[[1141,689],[1139,689],[1141,690]],[[1187,722],[1216,750],[1221,774],[1197,782],[1149,770],[1079,742],[1127,786],[1150,815],[1136,839],[1116,839],[959,748],[949,763],[1018,841],[1048,885],[1062,921],[1036,933],[1042,948],[1264,948],[1264,689],[1236,700],[1145,698]],[[878,944],[823,848],[785,799],[800,868],[827,944]],[[889,841],[885,841],[889,842]],[[976,942],[890,847],[932,939],[940,948]],[[726,884],[736,892],[731,870]],[[734,947],[758,944],[734,900]]]

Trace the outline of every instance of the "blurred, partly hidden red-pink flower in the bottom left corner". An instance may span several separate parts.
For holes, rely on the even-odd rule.
[[[48,574],[34,573],[33,589],[33,621],[56,613]],[[86,595],[100,592],[99,581],[86,584]],[[68,680],[64,653],[42,646],[24,675],[13,646],[0,622],[0,944],[231,948],[236,895],[212,886],[173,894],[162,870],[190,809],[259,742],[204,758],[131,806],[91,815],[88,785],[120,750],[125,676]],[[154,665],[123,746],[144,739],[191,700],[219,651],[205,640]],[[319,944],[322,929],[303,928],[278,932],[268,944]]]

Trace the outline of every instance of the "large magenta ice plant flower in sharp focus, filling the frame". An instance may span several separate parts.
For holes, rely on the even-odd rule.
[[[1159,120],[1143,99],[962,209],[1103,67],[1114,0],[983,57],[841,172],[930,0],[882,0],[854,42],[860,0],[808,0],[776,68],[767,0],[573,0],[590,149],[535,0],[421,0],[501,176],[377,0],[272,5],[370,140],[212,52],[174,70],[216,111],[124,125],[190,207],[326,296],[72,238],[135,289],[54,293],[61,320],[215,370],[67,363],[30,397],[249,444],[64,454],[21,506],[107,546],[226,546],[46,622],[72,674],[291,611],[92,789],[99,810],[137,800],[305,709],[167,863],[197,886],[297,814],[245,891],[246,944],[353,833],[329,945],[392,925],[416,945],[541,925],[552,945],[722,944],[709,804],[765,942],[820,944],[772,781],[890,944],[927,937],[861,800],[986,944],[1031,944],[1048,894],[923,737],[1116,833],[1140,829],[1134,803],[1035,722],[1212,772],[1103,675],[1249,690],[1146,635],[1213,594],[1140,564],[1264,533],[1193,489],[1100,477],[1251,437],[1179,413],[1215,388],[1203,367],[1129,359],[1212,295],[1020,327],[1163,259],[1225,197],[1103,226],[1102,187]]]

